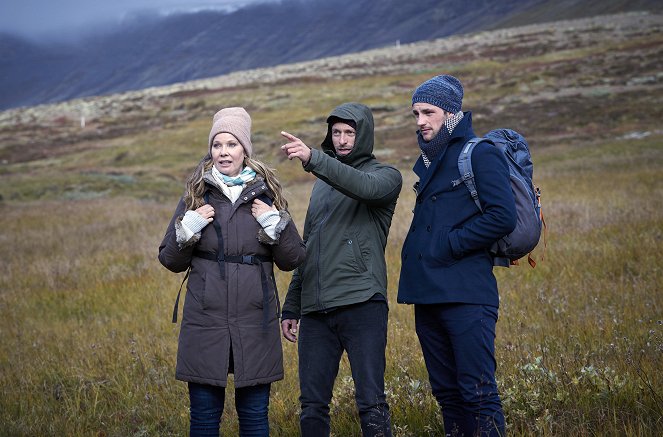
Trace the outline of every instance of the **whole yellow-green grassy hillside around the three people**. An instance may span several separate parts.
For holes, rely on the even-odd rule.
[[[577,25],[575,48],[553,54],[516,34],[522,50],[507,46],[518,68],[499,57],[479,63],[481,52],[450,67],[464,79],[478,132],[510,126],[531,139],[543,189],[545,257],[542,242],[535,269],[496,270],[497,377],[510,435],[654,436],[663,426],[661,27],[636,22],[620,42],[606,38],[615,26]],[[578,48],[585,37],[591,53]],[[409,96],[439,68],[166,98],[82,132],[72,116],[48,115],[60,106],[40,109],[46,115],[31,115],[33,124],[26,112],[24,123],[0,126],[0,435],[185,435],[187,390],[174,379],[179,326],[170,322],[182,276],[156,255],[211,115],[219,105],[249,108],[259,157],[276,167],[301,230],[313,179],[274,152],[278,132],[316,144],[326,114],[346,100],[374,109],[376,154],[405,179],[387,247],[394,433],[440,435],[413,308],[395,302],[414,201]],[[623,79],[624,70],[640,80]],[[149,119],[163,122],[141,124]],[[35,122],[41,135],[30,133]],[[277,274],[282,295],[289,278]],[[286,377],[273,385],[270,422],[273,435],[292,436],[297,357],[283,347]],[[223,431],[237,434],[232,407]],[[345,358],[332,431],[359,435]]]

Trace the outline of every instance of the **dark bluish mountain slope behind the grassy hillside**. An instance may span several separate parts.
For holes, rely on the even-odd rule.
[[[114,1],[148,2],[157,0]],[[76,40],[0,34],[0,110],[503,26],[661,9],[652,0],[218,0],[216,7],[222,3],[238,9],[191,2],[196,12],[163,15],[147,8]]]

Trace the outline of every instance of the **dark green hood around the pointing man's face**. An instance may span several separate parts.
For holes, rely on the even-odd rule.
[[[333,117],[352,120],[357,125],[357,134],[352,151],[346,156],[337,156],[331,136],[329,122]],[[323,152],[337,158],[344,164],[355,166],[366,159],[373,158],[373,114],[366,105],[361,103],[343,103],[337,106],[327,117],[327,136],[321,144]]]

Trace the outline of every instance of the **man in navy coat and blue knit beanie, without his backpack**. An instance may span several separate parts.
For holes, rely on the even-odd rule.
[[[433,77],[412,95],[421,156],[412,224],[403,243],[398,302],[414,304],[415,326],[447,435],[504,435],[495,382],[499,306],[491,245],[516,226],[502,153],[481,142],[472,169],[483,213],[459,179],[458,156],[475,137],[461,110],[463,86]]]

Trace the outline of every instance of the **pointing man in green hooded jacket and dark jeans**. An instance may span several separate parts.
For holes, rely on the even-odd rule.
[[[384,251],[403,180],[373,155],[368,107],[344,103],[327,125],[322,150],[282,132],[288,159],[318,178],[304,222],[306,261],[293,273],[281,319],[283,336],[298,341],[301,432],[329,435],[329,403],[346,351],[362,434],[390,436]]]

